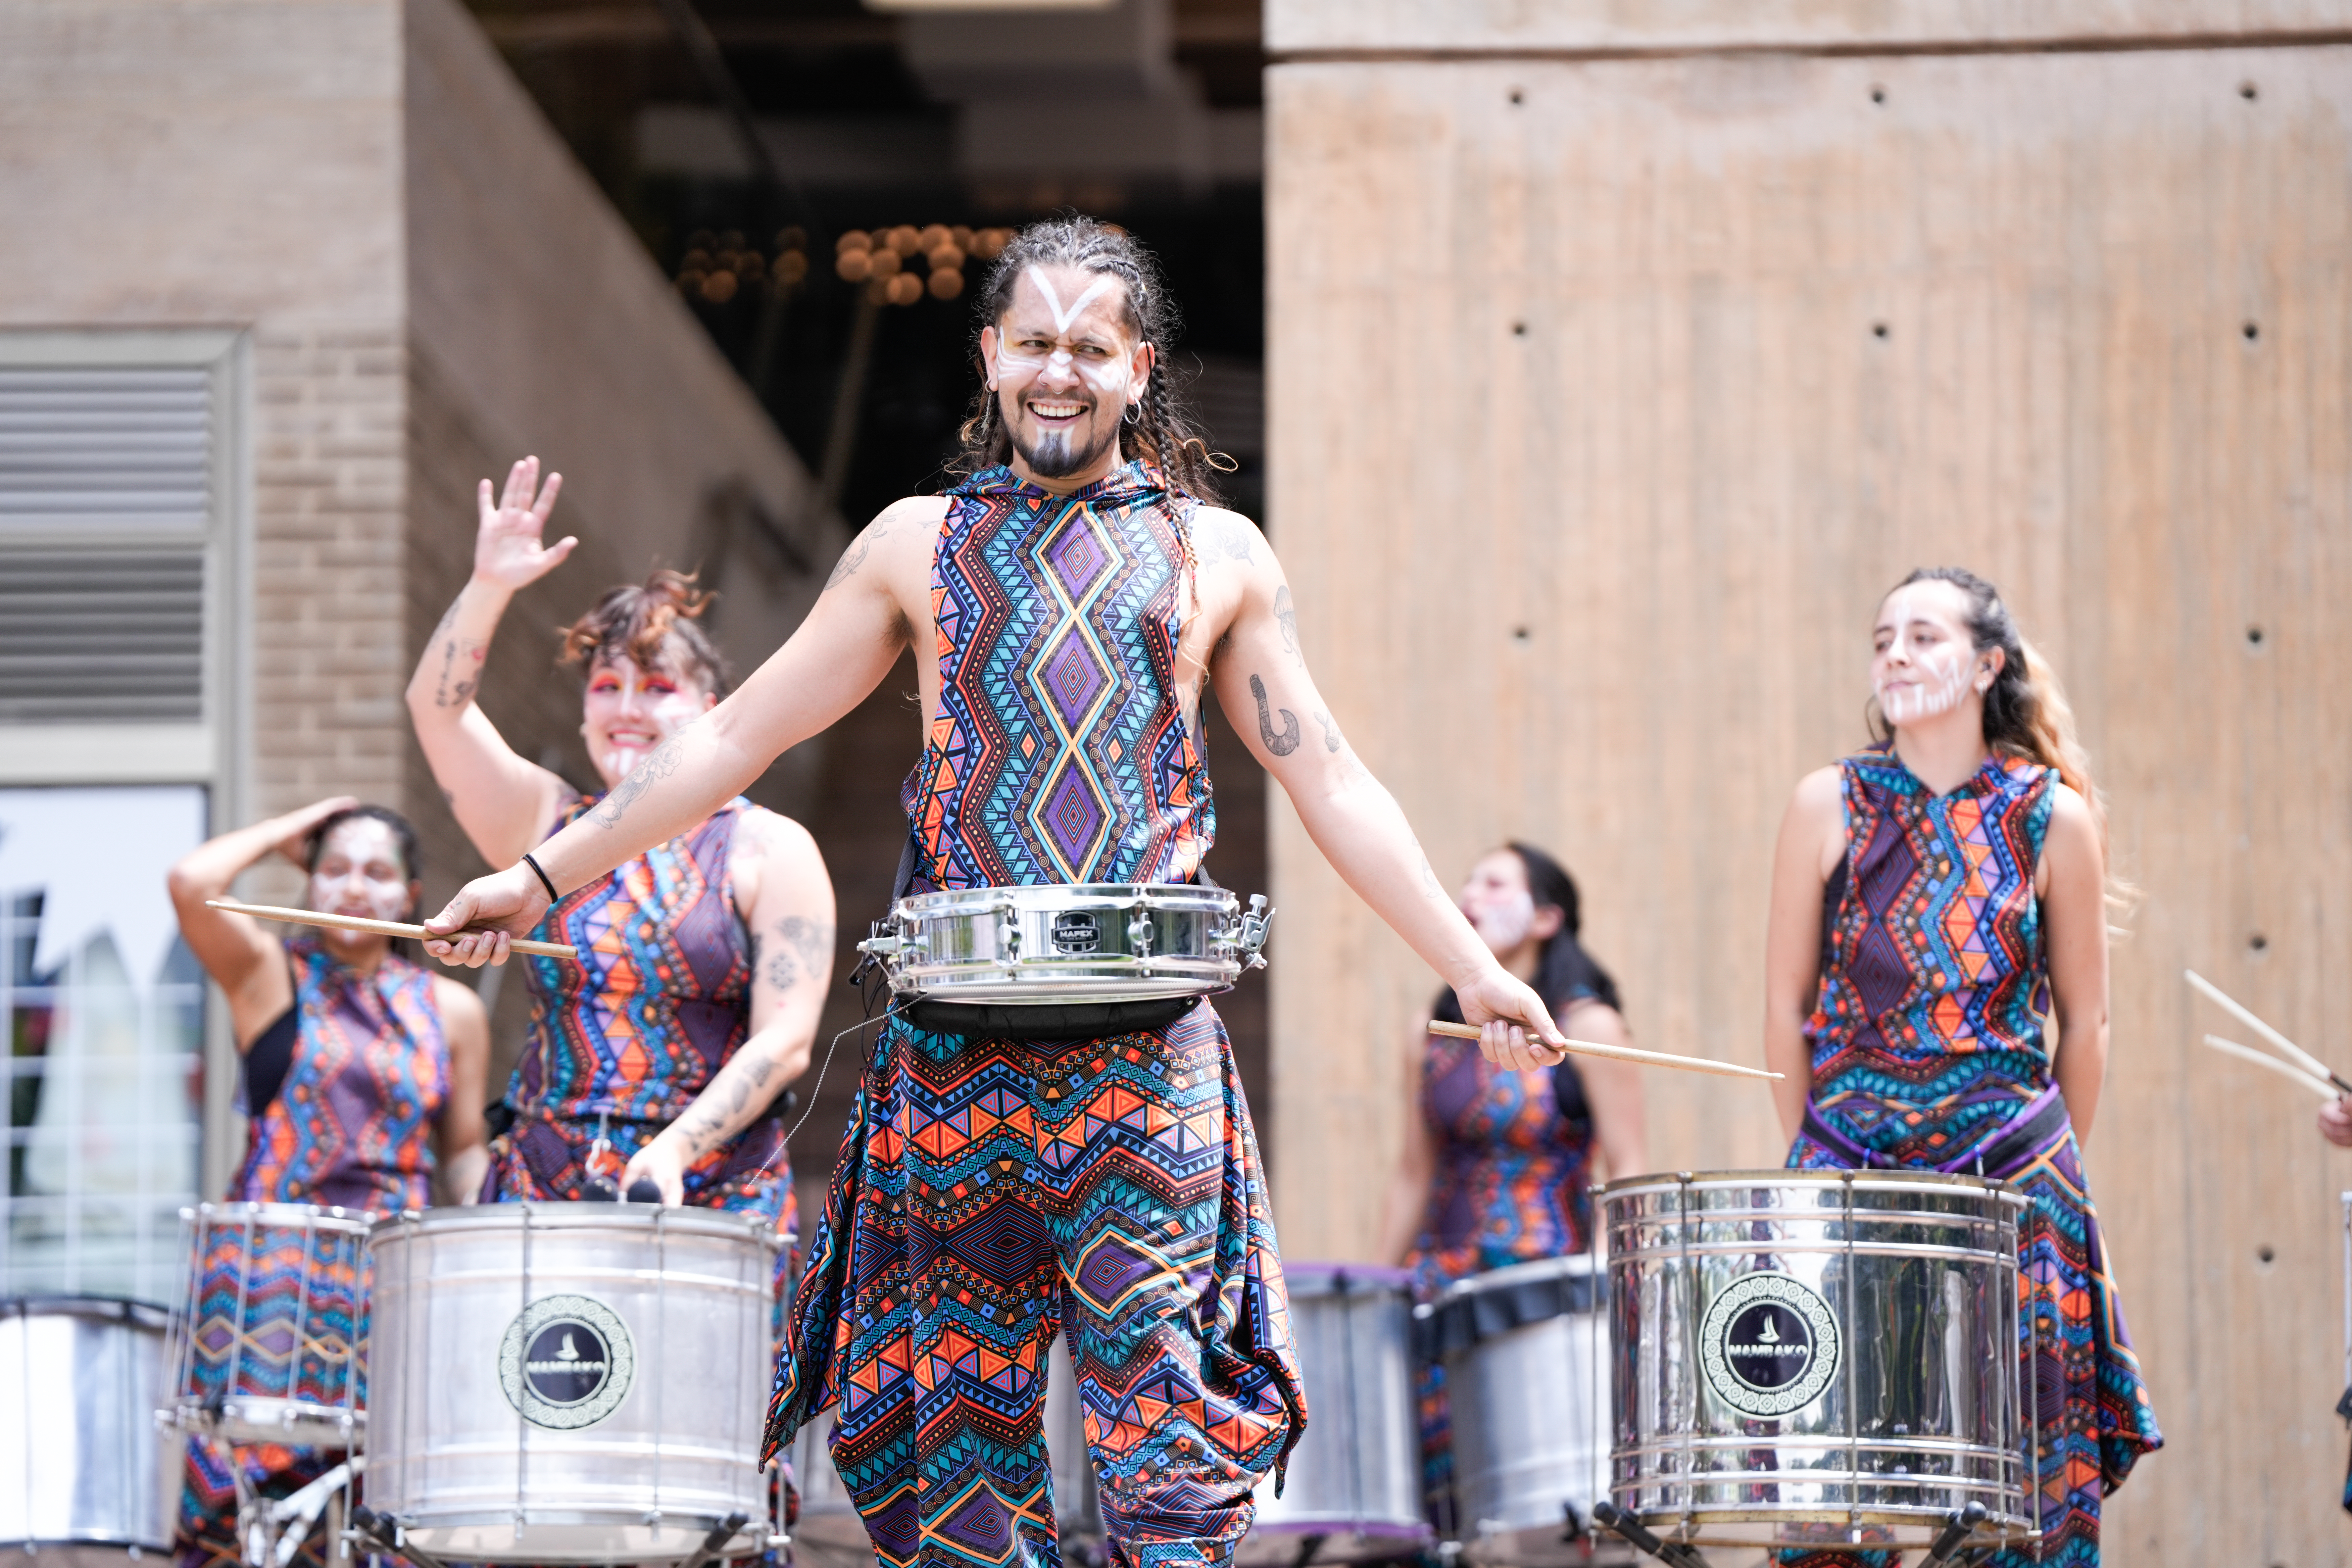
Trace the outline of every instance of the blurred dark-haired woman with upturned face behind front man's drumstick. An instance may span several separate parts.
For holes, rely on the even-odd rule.
[[[1576,879],[1534,844],[1489,851],[1461,891],[1461,910],[1503,969],[1552,1009],[1571,1039],[1632,1044],[1618,1013],[1616,980],[1576,940]],[[1461,1023],[1454,992],[1432,1018]],[[1456,1279],[1562,1258],[1592,1244],[1595,1154],[1609,1175],[1649,1166],[1642,1070],[1569,1058],[1557,1067],[1510,1070],[1477,1041],[1414,1030],[1404,1053],[1404,1154],[1388,1187],[1381,1258],[1414,1274],[1414,1293],[1435,1300]],[[1425,1363],[1418,1387],[1421,1476],[1430,1521],[1449,1533],[1454,1436],[1444,1366]]]

